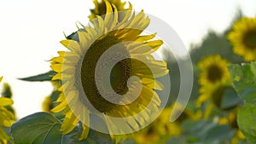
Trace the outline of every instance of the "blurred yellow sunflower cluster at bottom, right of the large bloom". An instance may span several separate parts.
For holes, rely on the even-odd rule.
[[[177,107],[174,109],[174,105]],[[185,109],[183,113],[177,118],[176,121],[170,122],[171,113],[174,114],[178,111],[182,111],[182,104],[175,102],[171,107],[165,107],[160,113],[160,116],[154,120],[154,123],[148,125],[145,129],[138,131],[131,135],[131,139],[138,144],[148,143],[166,143],[173,136],[181,135],[181,124],[184,120],[198,120],[201,118],[201,112],[191,112],[189,109]]]

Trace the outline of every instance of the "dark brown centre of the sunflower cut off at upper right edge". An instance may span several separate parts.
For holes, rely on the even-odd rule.
[[[243,42],[249,49],[256,49],[256,30],[247,32],[243,37]]]

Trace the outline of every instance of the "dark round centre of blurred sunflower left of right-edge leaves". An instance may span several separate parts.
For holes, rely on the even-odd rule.
[[[218,66],[212,65],[208,68],[207,79],[210,82],[214,83],[220,80],[222,77],[223,77],[223,72]]]

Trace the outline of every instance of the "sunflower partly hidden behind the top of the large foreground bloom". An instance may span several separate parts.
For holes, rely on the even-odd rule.
[[[102,16],[104,14],[107,14],[106,2],[104,0],[94,0],[93,3],[95,4],[95,9],[90,9],[90,20],[96,19],[96,16]],[[108,3],[113,4],[117,11],[127,10],[125,9],[125,2],[121,2],[121,0],[108,0]],[[114,9],[113,6],[112,9]],[[119,21],[120,19],[121,17],[119,15]]]

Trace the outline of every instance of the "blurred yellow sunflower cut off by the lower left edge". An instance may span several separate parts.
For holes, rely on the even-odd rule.
[[[2,81],[0,78],[0,82]],[[6,107],[12,105],[14,101],[7,97],[0,97],[0,143],[7,144],[10,137],[6,135],[3,130],[4,127],[10,127],[13,123],[15,123],[15,116],[13,112],[9,112]]]

